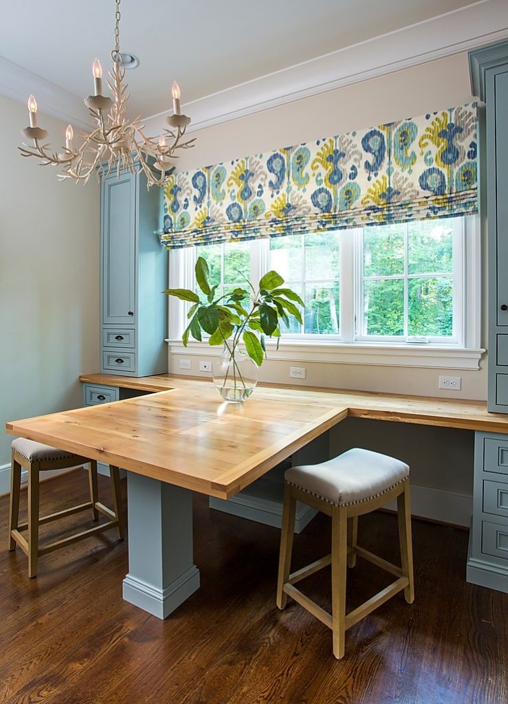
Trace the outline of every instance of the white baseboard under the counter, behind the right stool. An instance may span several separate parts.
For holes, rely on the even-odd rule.
[[[383,508],[396,510],[397,502],[391,501]],[[411,484],[411,513],[421,518],[469,527],[473,515],[473,497]]]

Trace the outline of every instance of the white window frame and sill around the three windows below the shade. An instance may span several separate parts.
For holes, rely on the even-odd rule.
[[[341,231],[341,321],[340,335],[283,334],[279,350],[274,351],[276,341],[267,339],[267,353],[270,359],[291,362],[322,362],[337,364],[367,364],[400,367],[428,367],[438,369],[477,370],[484,349],[481,348],[481,237],[478,215],[461,218],[462,257],[455,257],[455,266],[462,269],[461,290],[454,291],[457,307],[461,305],[462,315],[454,310],[454,340],[433,341],[427,344],[406,342],[400,338],[387,340],[362,339],[355,331],[360,305],[361,285],[359,276],[359,251],[357,230]],[[227,244],[225,245],[227,246]],[[269,270],[269,239],[251,241],[250,274],[258,281]],[[195,287],[193,268],[196,263],[196,247],[170,251],[170,287]],[[352,265],[354,263],[354,265]],[[357,301],[355,306],[355,301]],[[193,356],[220,354],[220,347],[210,347],[208,342],[189,341],[182,344],[182,332],[187,320],[189,305],[170,296],[169,338],[170,351],[177,355]],[[206,352],[204,351],[206,350]]]

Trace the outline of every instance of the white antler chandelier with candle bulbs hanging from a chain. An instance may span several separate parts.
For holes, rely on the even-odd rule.
[[[160,137],[146,137],[141,116],[127,119],[127,83],[124,82],[125,68],[122,68],[120,54],[120,0],[115,0],[115,49],[111,52],[113,70],[110,71],[108,86],[113,100],[102,95],[102,68],[96,58],[93,65],[95,95],[84,99],[95,129],[83,132],[83,142],[75,147],[72,144],[72,125],[65,132],[65,149],[62,153],[52,153],[51,144],[41,144],[48,132],[37,126],[37,102],[33,95],[28,99],[30,127],[21,130],[24,137],[33,140],[34,146],[23,144],[18,147],[23,156],[36,156],[43,166],[61,166],[60,180],[73,179],[86,184],[92,173],[97,176],[128,170],[133,173],[143,171],[148,187],[163,186],[174,170],[172,158],[177,149],[189,149],[195,139],[182,141],[191,118],[180,112],[180,89],[176,81],[172,85],[174,114],[166,118],[170,129],[165,129]]]

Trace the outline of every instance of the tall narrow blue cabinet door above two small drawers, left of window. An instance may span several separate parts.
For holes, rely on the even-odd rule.
[[[136,322],[136,181],[132,174],[103,180],[102,322]]]

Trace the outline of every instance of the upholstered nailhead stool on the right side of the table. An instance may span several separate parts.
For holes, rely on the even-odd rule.
[[[286,487],[282,514],[277,606],[284,609],[291,596],[331,628],[334,655],[344,655],[345,631],[399,591],[407,603],[414,600],[409,467],[400,460],[369,450],[354,449],[319,465],[291,467],[284,475]],[[358,516],[397,498],[400,559],[392,565],[357,546]],[[290,574],[296,501],[303,501],[331,516],[331,554]],[[355,566],[356,555],[394,574],[397,579],[348,614],[345,612],[346,564]],[[331,564],[331,614],[294,586]]]

